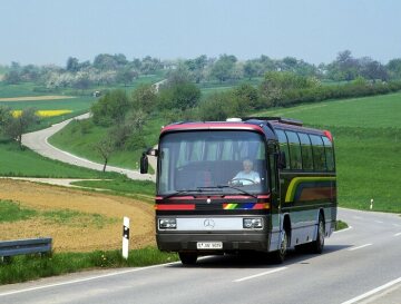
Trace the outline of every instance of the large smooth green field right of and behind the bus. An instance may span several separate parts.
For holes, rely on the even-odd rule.
[[[258,112],[333,133],[343,207],[401,213],[401,94]]]

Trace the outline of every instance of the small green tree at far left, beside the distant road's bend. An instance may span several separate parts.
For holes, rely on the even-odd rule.
[[[20,115],[6,120],[4,133],[12,139],[19,143],[22,149],[22,135],[36,122],[39,121],[39,117],[36,114],[35,108],[27,108],[21,111]]]

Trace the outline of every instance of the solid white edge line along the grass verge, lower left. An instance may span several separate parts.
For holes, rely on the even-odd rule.
[[[86,278],[78,278],[78,280],[60,282],[60,283],[55,283],[55,284],[49,284],[49,285],[43,285],[43,286],[37,286],[37,287],[31,287],[31,288],[26,288],[26,290],[20,290],[20,291],[11,291],[11,292],[6,292],[6,293],[0,293],[0,297],[8,296],[8,295],[14,295],[14,294],[21,294],[21,293],[28,293],[28,292],[36,292],[36,291],[40,291],[40,290],[47,290],[47,288],[65,286],[65,285],[70,285],[70,284],[77,284],[77,283],[99,280],[99,278],[104,278],[104,277],[117,276],[117,275],[123,275],[123,274],[128,274],[128,273],[136,273],[136,272],[140,272],[140,271],[147,271],[147,269],[163,267],[163,266],[178,264],[178,263],[179,262],[172,262],[172,263],[166,263],[166,264],[153,265],[153,266],[121,271],[121,272],[114,272],[114,273],[104,274],[104,275],[97,275],[97,276],[90,276],[90,277],[86,277]]]

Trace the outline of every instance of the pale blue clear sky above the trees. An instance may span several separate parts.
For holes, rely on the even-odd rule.
[[[399,0],[0,0],[0,65],[291,56],[401,58]]]

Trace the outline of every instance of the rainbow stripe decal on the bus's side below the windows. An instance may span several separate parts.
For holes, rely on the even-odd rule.
[[[291,180],[285,203],[330,199],[335,196],[335,177],[295,177]],[[334,190],[333,190],[334,189]]]

